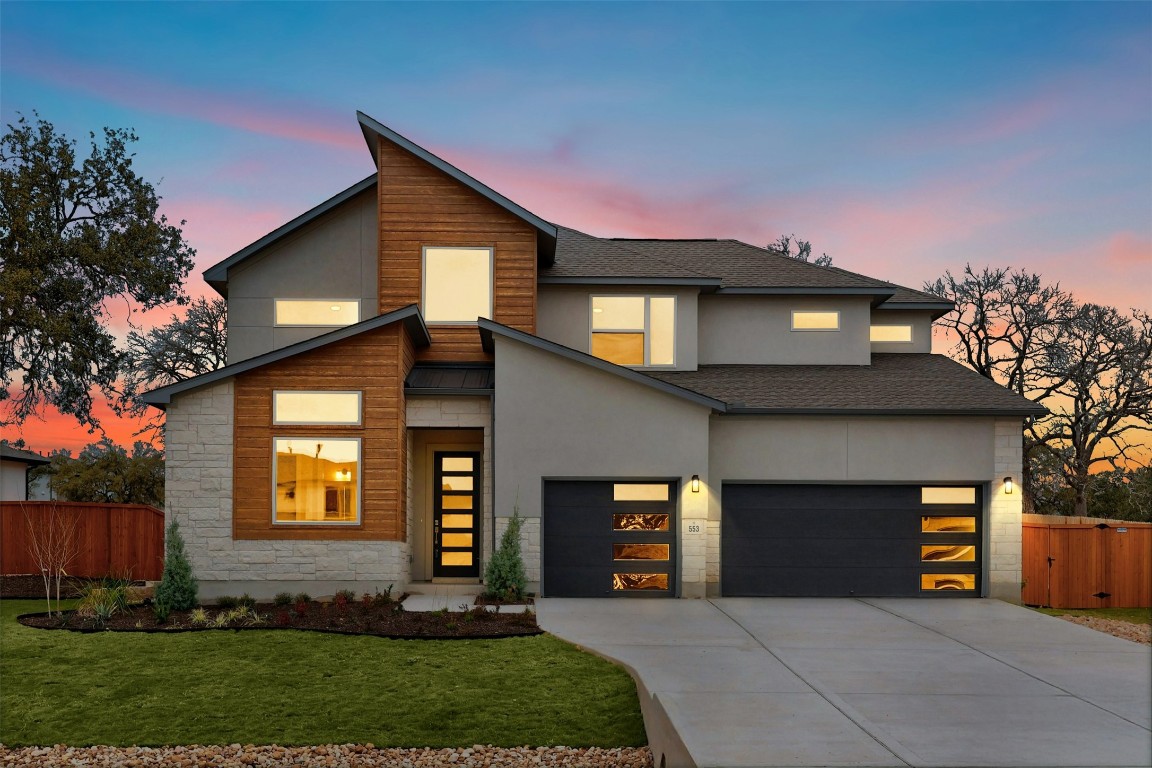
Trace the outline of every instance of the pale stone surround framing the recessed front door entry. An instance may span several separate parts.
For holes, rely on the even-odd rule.
[[[409,448],[411,448],[411,431],[419,428],[450,428],[450,429],[484,429],[484,466],[482,467],[484,484],[484,501],[480,519],[480,576],[484,576],[484,567],[492,556],[492,398],[490,397],[423,397],[412,395],[407,401],[406,421],[409,429]],[[411,456],[411,453],[409,453]],[[409,473],[411,473],[412,462],[408,462]],[[415,519],[412,509],[411,484],[414,478],[409,477],[408,493],[408,520],[409,525]],[[409,538],[412,529],[409,527]],[[497,530],[497,540],[500,532]]]

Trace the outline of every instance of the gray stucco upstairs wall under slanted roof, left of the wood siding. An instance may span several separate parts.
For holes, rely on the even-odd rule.
[[[369,191],[232,269],[228,363],[332,330],[275,327],[276,298],[355,298],[361,303],[361,320],[376,317],[377,241],[376,195]]]

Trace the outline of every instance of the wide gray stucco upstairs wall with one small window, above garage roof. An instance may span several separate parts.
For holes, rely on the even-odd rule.
[[[791,312],[840,312],[840,330],[793,330]],[[700,365],[867,365],[867,296],[700,296]]]

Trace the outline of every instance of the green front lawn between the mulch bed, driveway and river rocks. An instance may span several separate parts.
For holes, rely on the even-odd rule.
[[[547,634],[81,634],[15,621],[40,610],[0,601],[8,746],[647,743],[628,674]]]

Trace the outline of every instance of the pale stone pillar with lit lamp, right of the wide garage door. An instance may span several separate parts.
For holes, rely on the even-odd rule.
[[[1020,419],[996,419],[994,473],[988,500],[988,596],[1021,601],[1023,491],[1021,473],[1024,436]],[[1003,479],[1011,478],[1015,489],[1006,494]]]

